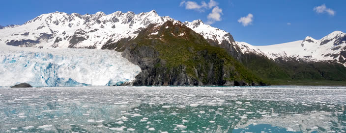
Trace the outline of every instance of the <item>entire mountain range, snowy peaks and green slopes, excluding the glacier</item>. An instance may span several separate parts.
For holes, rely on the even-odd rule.
[[[142,69],[133,85],[339,85],[346,81],[346,34],[341,31],[320,40],[308,36],[302,41],[254,46],[236,42],[229,32],[201,20],[179,22],[154,10],[109,15],[55,12],[0,29],[1,45],[122,52]]]

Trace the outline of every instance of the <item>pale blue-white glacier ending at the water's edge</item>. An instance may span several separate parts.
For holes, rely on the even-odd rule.
[[[116,86],[131,82],[141,68],[120,52],[97,49],[1,46],[0,86]]]

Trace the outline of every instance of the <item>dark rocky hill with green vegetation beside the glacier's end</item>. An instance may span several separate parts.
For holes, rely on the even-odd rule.
[[[181,22],[168,21],[143,29],[132,41],[109,43],[141,67],[135,86],[265,85],[229,52],[209,44]]]

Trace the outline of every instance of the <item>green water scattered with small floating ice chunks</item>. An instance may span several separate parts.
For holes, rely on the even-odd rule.
[[[346,87],[0,88],[0,133],[345,133]]]

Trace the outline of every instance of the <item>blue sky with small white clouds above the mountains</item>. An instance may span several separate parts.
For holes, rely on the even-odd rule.
[[[321,39],[346,32],[346,0],[1,0],[0,25],[23,24],[55,11],[94,14],[103,11],[156,10],[185,22],[202,20],[253,45]]]

